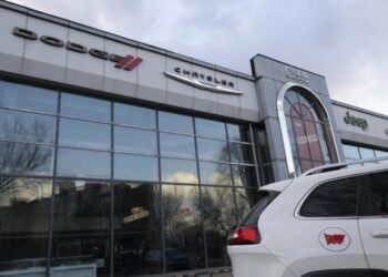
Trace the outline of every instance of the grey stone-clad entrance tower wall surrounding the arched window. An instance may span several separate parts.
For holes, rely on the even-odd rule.
[[[323,103],[331,121],[331,129],[337,144],[339,160],[344,161],[340,131],[335,120],[335,113],[325,78],[264,55],[254,57],[251,63],[259,100],[259,121],[265,123],[267,130],[275,181],[289,177],[285,145],[283,143],[278,119],[277,98],[282,86],[290,82],[308,88]],[[303,73],[303,78],[298,80],[297,78],[287,76],[287,70],[298,70]]]

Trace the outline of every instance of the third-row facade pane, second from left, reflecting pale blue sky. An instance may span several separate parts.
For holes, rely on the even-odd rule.
[[[111,177],[111,154],[83,150],[58,150],[59,176]]]

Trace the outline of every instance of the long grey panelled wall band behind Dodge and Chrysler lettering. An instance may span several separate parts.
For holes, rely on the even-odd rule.
[[[258,121],[258,101],[253,78],[247,74],[201,62],[166,50],[145,45],[92,28],[76,24],[0,1],[0,71],[22,78],[53,82],[241,121]],[[51,35],[122,57],[141,57],[143,62],[132,71],[114,68],[114,62],[86,53],[52,47],[40,40],[27,40],[12,33],[14,27],[38,35]],[[174,68],[196,71],[234,82],[243,95],[227,95],[200,90],[169,79],[163,72]],[[174,72],[173,72],[174,73]]]

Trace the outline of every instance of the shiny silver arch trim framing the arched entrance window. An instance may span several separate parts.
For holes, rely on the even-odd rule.
[[[336,155],[337,155],[336,158],[338,162],[340,161],[340,157],[338,154],[337,142],[336,142],[336,138],[334,136],[331,119],[330,119],[329,114],[327,113],[325,105],[321,103],[319,98],[307,86],[295,83],[295,82],[288,82],[288,83],[285,83],[280,88],[278,95],[277,95],[276,105],[277,105],[277,116],[279,119],[280,133],[282,133],[283,145],[284,145],[284,150],[285,150],[285,154],[286,154],[286,163],[287,163],[287,167],[288,167],[288,176],[289,177],[295,177],[296,172],[295,172],[295,163],[294,163],[294,157],[293,157],[293,150],[292,150],[290,141],[288,137],[286,115],[285,115],[285,111],[284,111],[284,98],[285,98],[286,92],[294,86],[302,88],[302,89],[306,90],[308,93],[310,93],[313,95],[313,98],[324,109],[324,112],[326,114],[326,117],[328,120],[329,127],[330,127],[330,135],[331,135],[331,138],[334,142],[334,150],[335,150]]]

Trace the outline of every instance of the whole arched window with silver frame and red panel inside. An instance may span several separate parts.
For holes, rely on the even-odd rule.
[[[298,83],[284,84],[277,114],[290,177],[339,161],[330,117],[319,98]]]

